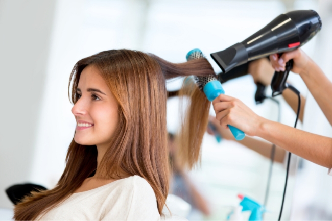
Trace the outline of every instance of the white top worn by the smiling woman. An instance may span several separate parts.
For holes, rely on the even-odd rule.
[[[164,220],[167,216],[160,216],[150,184],[132,176],[73,193],[37,220]]]

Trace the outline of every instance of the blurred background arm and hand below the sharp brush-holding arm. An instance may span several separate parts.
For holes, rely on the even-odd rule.
[[[271,157],[271,151],[273,145],[272,143],[266,142],[264,140],[258,140],[249,136],[246,136],[243,140],[235,140],[234,136],[232,135],[229,129],[225,129],[220,126],[219,121],[216,119],[216,117],[210,116],[209,121],[211,124],[213,124],[216,127],[218,133],[221,135],[223,139],[239,142],[242,145],[246,146],[247,148],[257,152],[258,154],[263,155],[264,157],[267,158]],[[274,161],[283,163],[285,156],[286,156],[286,151],[276,146]]]

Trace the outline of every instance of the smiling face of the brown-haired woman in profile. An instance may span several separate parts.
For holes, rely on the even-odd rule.
[[[99,156],[103,156],[100,153],[107,149],[118,124],[118,103],[93,65],[83,69],[75,95],[74,140],[84,145],[97,145]]]

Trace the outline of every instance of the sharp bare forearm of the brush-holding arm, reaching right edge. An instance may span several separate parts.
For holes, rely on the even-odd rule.
[[[262,120],[256,136],[311,162],[327,168],[332,167],[332,138],[301,131],[267,119]]]

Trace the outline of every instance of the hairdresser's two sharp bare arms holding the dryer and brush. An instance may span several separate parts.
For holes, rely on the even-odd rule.
[[[332,125],[332,83],[318,65],[300,49],[271,55],[275,70],[284,70],[294,60],[292,71],[298,73]],[[301,131],[258,116],[238,99],[220,95],[213,102],[216,118],[227,128],[230,124],[249,136],[259,136],[280,148],[327,168],[332,167],[332,138]]]

